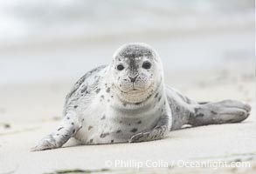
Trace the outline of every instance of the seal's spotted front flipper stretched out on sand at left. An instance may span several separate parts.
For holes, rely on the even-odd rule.
[[[69,117],[68,119],[70,120]],[[45,151],[61,147],[63,144],[66,144],[70,137],[73,137],[73,135],[79,131],[77,127],[74,122],[64,121],[57,131],[41,139],[38,145],[32,148],[31,151]]]

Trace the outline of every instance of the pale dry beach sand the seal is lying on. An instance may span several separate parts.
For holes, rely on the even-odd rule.
[[[179,78],[177,78],[177,76]],[[50,133],[61,117],[62,105],[71,82],[1,86],[0,88],[0,174],[5,173],[255,173],[256,124],[253,70],[198,70],[169,73],[167,84],[199,101],[240,99],[253,105],[251,117],[241,124],[209,125],[170,132],[168,138],[142,144],[73,146],[53,151],[31,152],[41,137]],[[71,147],[69,147],[71,146]],[[146,164],[222,160],[242,161],[250,168],[121,168],[116,160]],[[109,162],[109,163],[110,163]],[[109,169],[110,171],[101,171]],[[71,170],[70,172],[66,170]],[[116,171],[117,170],[117,171]],[[73,172],[72,172],[73,171]]]

